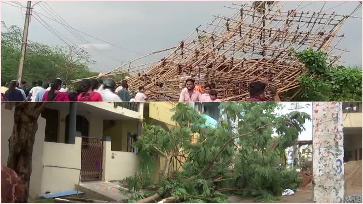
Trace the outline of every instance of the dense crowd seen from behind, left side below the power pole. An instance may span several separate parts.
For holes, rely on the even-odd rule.
[[[43,83],[41,80],[32,83],[29,87],[26,81],[21,86],[16,80],[9,83],[1,81],[1,101],[9,102],[142,102],[147,98],[144,94],[144,87],[140,86],[138,93],[131,98],[127,81],[116,83],[112,78],[83,79],[74,91],[68,90],[60,78],[54,79],[51,83]]]

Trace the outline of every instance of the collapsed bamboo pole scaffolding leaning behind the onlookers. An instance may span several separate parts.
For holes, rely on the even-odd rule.
[[[277,1],[266,9],[248,4],[226,7],[236,13],[214,16],[212,23],[194,29],[160,61],[133,70],[138,73],[127,79],[130,91],[144,86],[149,101],[178,101],[185,79],[192,78],[201,85],[215,83],[221,101],[245,101],[254,81],[264,82],[267,93],[270,86],[279,93],[297,88],[305,67],[294,52],[311,48],[328,53],[330,64],[339,61],[348,51],[337,48],[344,37],[338,31],[357,10],[349,16],[327,14],[322,12],[324,3],[319,12],[298,12],[301,3],[291,11],[281,11],[284,4]],[[105,76],[121,72],[125,70],[119,67]]]

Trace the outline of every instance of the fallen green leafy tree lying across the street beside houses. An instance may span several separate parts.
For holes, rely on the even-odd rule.
[[[227,120],[216,127],[201,128],[205,120],[193,107],[175,105],[172,120],[178,127],[167,131],[146,125],[135,143],[141,160],[155,156],[166,159],[155,184],[158,190],[132,196],[129,202],[225,203],[226,192],[273,200],[284,189],[298,187],[296,172],[276,167],[280,166],[282,150],[304,130],[303,124],[310,120],[308,114],[294,111],[277,115],[274,111],[281,108],[280,103],[222,103]],[[238,126],[234,125],[237,120]],[[195,143],[191,143],[192,133],[199,135]],[[180,168],[173,168],[173,161]],[[142,179],[136,180],[142,183]]]

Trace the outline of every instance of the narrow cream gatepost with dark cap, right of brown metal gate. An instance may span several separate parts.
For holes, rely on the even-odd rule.
[[[111,172],[111,162],[114,159],[111,152],[111,137],[103,136],[103,152],[102,152],[102,180],[109,181],[110,180],[110,172]]]

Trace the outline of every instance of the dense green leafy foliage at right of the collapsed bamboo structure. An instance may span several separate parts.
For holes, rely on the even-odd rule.
[[[295,101],[362,101],[362,68],[329,65],[326,53],[312,49],[296,56],[307,73],[298,78],[302,89]]]

